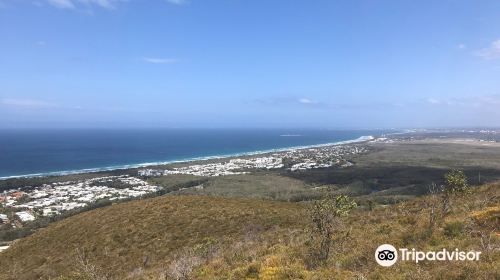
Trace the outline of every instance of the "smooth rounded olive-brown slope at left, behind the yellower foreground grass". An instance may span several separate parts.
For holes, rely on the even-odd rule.
[[[163,196],[82,213],[39,230],[2,253],[0,278],[37,279],[75,271],[78,255],[124,276],[160,266],[207,238],[242,237],[249,228],[293,228],[299,204],[207,196]],[[147,263],[147,264],[145,264]]]

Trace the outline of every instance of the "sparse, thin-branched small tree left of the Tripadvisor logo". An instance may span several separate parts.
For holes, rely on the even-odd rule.
[[[316,259],[324,262],[330,255],[332,237],[340,228],[342,218],[349,215],[357,207],[356,202],[346,195],[332,196],[315,201],[311,207],[313,234],[319,238],[319,248],[315,252]]]

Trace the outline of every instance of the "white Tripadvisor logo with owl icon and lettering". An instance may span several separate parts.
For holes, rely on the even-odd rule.
[[[459,251],[455,249],[448,251],[442,249],[440,251],[417,251],[415,248],[409,250],[406,248],[399,248],[397,250],[390,244],[383,244],[378,246],[375,250],[375,260],[381,266],[392,266],[398,259],[400,261],[411,261],[418,263],[419,261],[479,261],[479,251]]]

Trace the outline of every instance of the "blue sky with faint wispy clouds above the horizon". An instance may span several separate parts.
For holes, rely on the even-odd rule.
[[[0,128],[500,126],[499,1],[0,0]]]

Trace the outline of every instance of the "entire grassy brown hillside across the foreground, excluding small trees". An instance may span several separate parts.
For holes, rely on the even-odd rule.
[[[339,225],[320,265],[311,254],[307,203],[203,196],[133,201],[18,241],[1,255],[0,279],[499,279],[500,184],[457,198],[430,231],[432,200],[359,207]],[[383,243],[479,250],[482,257],[384,268],[373,257]]]

